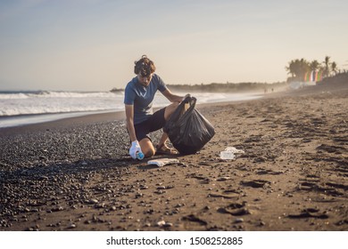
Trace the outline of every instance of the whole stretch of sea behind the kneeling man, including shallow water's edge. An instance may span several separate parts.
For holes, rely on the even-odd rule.
[[[175,92],[185,95],[186,92]],[[190,92],[197,104],[253,100],[255,93]],[[70,116],[123,111],[124,92],[0,92],[0,128],[53,121]],[[160,92],[153,107],[170,104]]]

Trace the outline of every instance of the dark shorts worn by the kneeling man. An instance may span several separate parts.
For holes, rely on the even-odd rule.
[[[137,141],[141,141],[145,138],[148,138],[151,141],[148,134],[163,128],[164,124],[166,124],[164,111],[165,108],[159,109],[144,122],[134,125],[134,128],[136,129]]]

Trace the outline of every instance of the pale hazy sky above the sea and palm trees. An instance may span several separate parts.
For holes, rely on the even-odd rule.
[[[108,91],[146,54],[167,84],[285,81],[348,68],[346,0],[0,0],[0,90]]]

